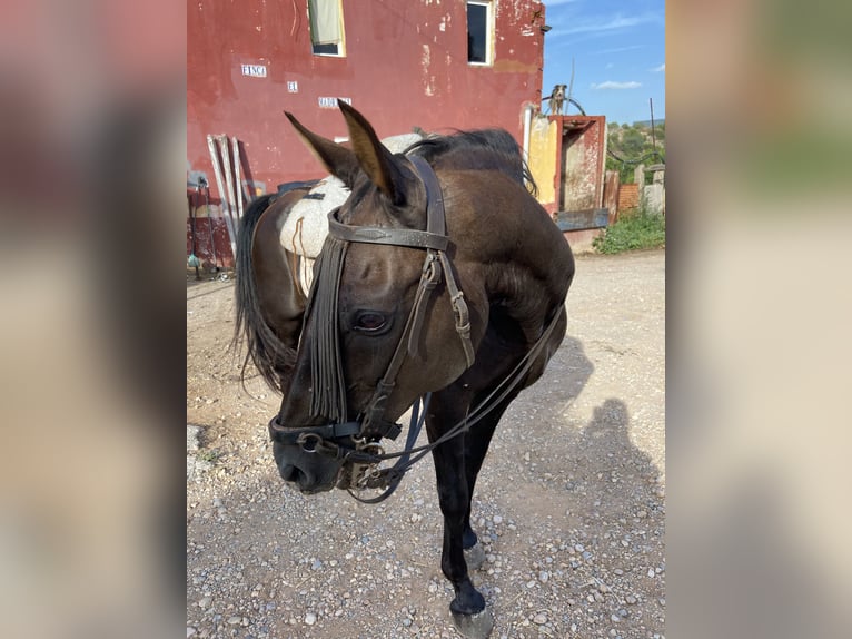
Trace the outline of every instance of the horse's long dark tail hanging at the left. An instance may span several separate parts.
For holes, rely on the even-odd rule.
[[[242,362],[242,371],[240,372],[244,386],[246,367],[250,360],[266,383],[276,390],[280,390],[277,370],[291,358],[291,350],[276,336],[264,318],[260,311],[257,283],[255,282],[251,268],[251,245],[255,229],[260,220],[260,216],[269,208],[275,197],[276,194],[267,194],[256,198],[242,215],[242,220],[239,225],[236,255],[237,317],[234,326],[231,348],[238,350],[242,338],[246,340],[247,353]]]

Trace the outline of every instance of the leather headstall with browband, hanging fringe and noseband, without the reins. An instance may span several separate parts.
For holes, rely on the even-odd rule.
[[[474,347],[470,342],[470,321],[464,293],[459,289],[453,267],[446,250],[449,238],[446,233],[446,213],[444,210],[444,196],[440,185],[429,164],[418,156],[408,158],[414,165],[426,189],[426,230],[412,228],[380,228],[371,226],[351,226],[339,219],[339,208],[328,214],[328,234],[330,243],[326,245],[320,256],[323,263],[319,267],[319,276],[315,278],[311,289],[311,299],[306,309],[306,317],[311,307],[316,306],[320,317],[336,318],[336,304],[339,293],[339,277],[343,271],[343,262],[346,247],[349,243],[377,244],[417,248],[426,252],[423,264],[420,281],[415,294],[414,305],[408,314],[405,328],[396,345],[390,363],[373,393],[366,410],[357,421],[346,421],[346,385],[343,380],[343,370],[339,358],[339,345],[337,341],[336,320],[330,325],[321,327],[320,338],[315,340],[318,345],[311,353],[311,412],[315,415],[331,416],[341,423],[331,423],[324,426],[285,427],[277,417],[269,422],[269,435],[273,441],[281,444],[299,444],[308,452],[321,452],[337,459],[357,462],[358,450],[340,446],[329,440],[351,440],[356,446],[375,446],[382,438],[395,440],[402,432],[399,424],[384,419],[387,400],[396,386],[396,379],[406,355],[416,356],[423,331],[424,318],[432,293],[440,283],[442,275],[447,286],[447,292],[455,315],[455,327],[462,341],[467,367],[474,363]],[[329,242],[329,240],[327,240]],[[324,272],[326,276],[324,277]],[[329,275],[330,274],[330,275]],[[424,410],[425,413],[425,410]],[[408,448],[414,445],[412,432],[419,431],[413,420],[409,430]],[[416,440],[416,436],[414,438]],[[375,451],[374,451],[375,452]]]

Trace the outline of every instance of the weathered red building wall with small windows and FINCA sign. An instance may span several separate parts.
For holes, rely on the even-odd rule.
[[[208,134],[240,139],[252,178],[266,190],[323,175],[283,112],[326,137],[346,136],[343,117],[320,108],[319,97],[350,98],[380,137],[414,126],[499,126],[518,142],[525,105],[541,104],[538,0],[495,0],[487,67],[467,63],[462,1],[343,0],[343,58],[311,53],[307,0],[194,0],[187,8],[187,169],[207,174],[214,201]],[[264,65],[267,77],[246,77],[241,65]]]

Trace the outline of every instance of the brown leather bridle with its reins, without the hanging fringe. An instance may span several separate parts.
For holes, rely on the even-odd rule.
[[[323,454],[344,464],[351,464],[347,479],[351,484],[340,485],[347,488],[349,493],[358,501],[377,503],[388,498],[399,485],[404,474],[424,455],[432,452],[436,446],[460,435],[499,405],[513,390],[521,384],[532,367],[536,357],[542,354],[553,331],[558,324],[559,307],[564,306],[564,299],[556,306],[547,324],[543,326],[533,347],[515,365],[513,371],[492,392],[473,407],[459,422],[454,424],[435,441],[415,448],[415,442],[423,426],[430,393],[418,399],[412,407],[412,422],[405,450],[396,453],[385,453],[378,441],[382,438],[396,439],[402,432],[402,426],[384,420],[385,406],[390,393],[396,385],[396,376],[407,354],[417,354],[419,334],[423,330],[423,321],[426,314],[428,299],[444,276],[447,292],[449,293],[455,315],[455,326],[462,340],[467,367],[474,363],[474,348],[470,342],[470,323],[464,293],[459,289],[452,263],[446,254],[449,238],[446,234],[446,216],[444,198],[435,171],[428,163],[419,156],[409,156],[408,159],[416,168],[426,188],[427,197],[427,223],[426,230],[379,228],[369,226],[350,226],[340,222],[338,210],[328,214],[328,232],[334,238],[345,243],[384,244],[403,246],[426,250],[420,281],[415,294],[415,302],[408,315],[403,335],[397,343],[385,375],[377,383],[376,390],[359,419],[344,423],[331,423],[323,426],[285,427],[273,417],[269,422],[269,436],[273,441],[281,444],[300,445],[309,453]],[[318,281],[314,281],[316,287]],[[314,292],[311,292],[314,293]],[[337,291],[330,292],[337,295]],[[328,294],[328,292],[326,293]],[[420,403],[423,413],[419,414]],[[412,459],[412,454],[416,453]],[[377,470],[383,461],[396,459],[393,468]],[[385,489],[376,498],[365,499],[351,492],[356,489]]]

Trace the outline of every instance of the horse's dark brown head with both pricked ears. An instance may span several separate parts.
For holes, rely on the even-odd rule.
[[[454,295],[435,174],[422,158],[388,151],[355,109],[340,110],[351,148],[287,114],[351,190],[329,216],[297,361],[270,422],[279,472],[303,492],[348,488],[355,453],[396,436],[396,420],[457,379],[482,336],[470,336],[464,298]]]

